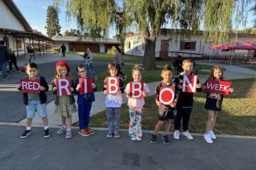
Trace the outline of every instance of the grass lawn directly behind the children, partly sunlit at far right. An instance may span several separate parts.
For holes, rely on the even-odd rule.
[[[215,133],[256,136],[256,79],[238,79],[230,81],[233,82],[234,93],[226,96],[223,100],[223,111],[218,114]],[[206,94],[195,94],[190,121],[191,132],[205,132],[207,120],[207,113],[204,109],[205,101]],[[158,121],[158,107],[154,102],[154,96],[147,97],[145,103],[142,128],[144,130],[154,130],[154,125],[156,125]],[[129,125],[127,104],[122,105],[121,111],[120,125],[121,128],[127,129]],[[172,123],[171,131],[174,130],[173,125]],[[105,111],[93,115],[90,118],[90,126],[107,127]],[[162,128],[161,130],[164,129]]]

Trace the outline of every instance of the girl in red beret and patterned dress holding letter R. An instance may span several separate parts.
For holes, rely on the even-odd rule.
[[[56,62],[56,73],[53,79],[53,91],[55,94],[57,94],[57,87],[56,87],[56,82],[58,79],[71,79],[69,77],[68,73],[70,72],[70,66],[68,63],[59,61]],[[72,79],[72,84],[71,84],[71,91],[73,92],[75,89],[75,82]],[[72,113],[76,113],[77,108],[75,106],[75,98],[72,95],[70,96],[57,96],[55,98],[55,109],[54,113],[56,115],[61,115],[61,120],[62,120],[62,127],[57,131],[57,133],[63,134],[63,132],[66,131],[65,138],[69,139],[72,137],[71,133],[71,124],[72,124]],[[68,119],[68,128],[66,128],[66,119]]]

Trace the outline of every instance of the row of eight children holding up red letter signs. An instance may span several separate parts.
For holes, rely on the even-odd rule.
[[[181,120],[183,124],[183,132],[188,140],[193,140],[193,136],[188,131],[188,124],[190,120],[191,111],[193,109],[193,93],[183,92],[183,76],[192,75],[193,70],[193,61],[183,60],[182,64],[183,72],[179,74],[174,81],[171,80],[173,72],[169,65],[165,65],[164,69],[161,71],[162,81],[156,84],[156,105],[159,106],[159,121],[156,123],[154,128],[154,133],[151,136],[151,143],[155,144],[157,139],[157,132],[159,132],[162,125],[165,123],[164,135],[162,140],[164,144],[169,144],[169,130],[171,128],[171,119],[174,119],[174,139],[179,140],[181,128]],[[107,65],[108,72],[110,77],[117,77],[118,65],[115,63],[109,63]],[[28,77],[24,79],[38,79],[40,80],[40,94],[32,93],[23,93],[23,101],[26,104],[26,113],[27,113],[27,126],[26,130],[21,135],[21,138],[26,138],[28,135],[31,135],[31,123],[32,118],[35,116],[35,111],[38,111],[38,114],[43,118],[44,125],[44,137],[50,137],[50,132],[48,128],[48,119],[46,114],[46,94],[48,91],[48,84],[44,77],[38,74],[39,69],[35,63],[28,63],[26,67],[26,73]],[[53,91],[57,94],[57,81],[58,79],[72,79],[69,76],[70,66],[68,63],[59,61],[56,62],[56,72],[53,78]],[[76,72],[80,78],[87,78],[87,69],[85,65],[80,64],[76,67]],[[142,69],[139,65],[135,65],[132,69],[132,77],[134,82],[143,82],[142,81]],[[223,69],[219,66],[213,67],[210,72],[208,79],[213,79],[216,81],[223,80]],[[105,98],[105,107],[107,111],[107,137],[118,138],[119,135],[119,122],[120,122],[120,112],[122,105],[122,94],[125,92],[128,99],[127,105],[129,106],[129,137],[131,140],[142,140],[142,115],[144,107],[144,97],[148,96],[149,87],[146,83],[142,83],[142,96],[139,98],[131,97],[131,83],[124,86],[124,80],[119,78],[119,90],[115,93],[109,93],[107,89],[107,77],[104,80],[103,93],[106,95]],[[90,84],[92,87],[91,93],[81,94],[80,89],[82,88],[79,84],[79,79],[71,81],[71,91],[74,94],[78,94],[78,118],[80,130],[78,133],[82,136],[93,135],[95,132],[89,128],[90,120],[90,110],[92,107],[92,102],[95,101],[94,91],[97,91],[97,86],[95,81],[92,81]],[[159,94],[162,88],[174,88],[174,103],[170,105],[165,105],[159,100]],[[18,85],[18,89],[21,90],[21,84]],[[199,84],[199,81],[196,84],[196,91],[203,91],[205,86]],[[233,89],[230,88],[230,92],[233,92]],[[73,94],[69,96],[57,96],[55,98],[55,109],[54,113],[61,116],[62,126],[57,131],[59,135],[65,132],[65,138],[71,138],[71,124],[72,124],[72,114],[77,112],[75,106],[75,98]],[[218,111],[221,111],[221,105],[223,102],[222,94],[211,94],[207,93],[206,105],[205,108],[208,113],[208,120],[206,123],[206,133],[204,138],[206,142],[213,143],[213,140],[216,139],[213,128],[215,125],[215,120]],[[67,125],[66,125],[67,124]]]

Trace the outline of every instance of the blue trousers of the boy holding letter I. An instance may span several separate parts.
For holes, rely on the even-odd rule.
[[[85,101],[82,104],[78,104],[78,118],[79,118],[79,128],[87,129],[89,127],[90,120],[90,110],[92,108],[92,102]]]

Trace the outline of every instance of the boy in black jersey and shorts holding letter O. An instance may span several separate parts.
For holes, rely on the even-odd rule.
[[[159,106],[159,121],[154,128],[154,133],[152,134],[151,137],[151,144],[156,144],[156,134],[157,132],[159,132],[161,126],[164,125],[164,121],[166,122],[166,125],[164,128],[164,136],[162,137],[162,139],[164,140],[164,144],[169,144],[168,133],[171,128],[171,119],[174,119],[176,116],[175,106],[178,100],[178,87],[176,86],[174,81],[171,81],[172,75],[173,72],[171,70],[171,67],[168,64],[166,64],[164,66],[164,69],[161,71],[161,77],[163,78],[163,81],[160,81],[158,84],[156,84],[156,105]],[[171,103],[169,106],[166,106],[159,101],[161,87],[175,87],[174,103]]]

